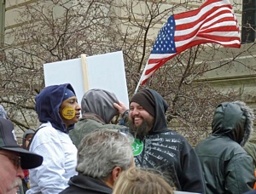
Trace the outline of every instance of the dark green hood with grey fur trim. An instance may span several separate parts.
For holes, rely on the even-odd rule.
[[[212,134],[227,135],[241,146],[253,132],[253,110],[244,102],[224,102],[217,106],[212,119]]]

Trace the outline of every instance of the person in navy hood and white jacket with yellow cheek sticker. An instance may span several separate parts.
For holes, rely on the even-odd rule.
[[[79,121],[81,107],[69,83],[45,87],[36,96],[36,111],[42,123],[29,150],[40,153],[44,163],[29,170],[26,194],[59,193],[76,175],[77,148],[67,134]]]

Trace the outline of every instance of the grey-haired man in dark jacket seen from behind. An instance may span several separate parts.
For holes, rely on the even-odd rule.
[[[132,136],[119,130],[96,129],[84,136],[78,150],[78,175],[61,194],[112,194],[119,174],[134,167]]]

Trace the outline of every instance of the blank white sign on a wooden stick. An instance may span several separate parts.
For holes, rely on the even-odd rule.
[[[99,54],[74,60],[44,64],[45,86],[70,83],[77,94],[79,104],[84,92],[102,88],[113,92],[119,101],[129,107],[123,52]]]

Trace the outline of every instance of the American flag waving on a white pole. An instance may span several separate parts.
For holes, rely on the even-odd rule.
[[[201,43],[240,48],[239,26],[229,0],[208,0],[199,9],[171,15],[154,42],[141,85],[167,60]]]

